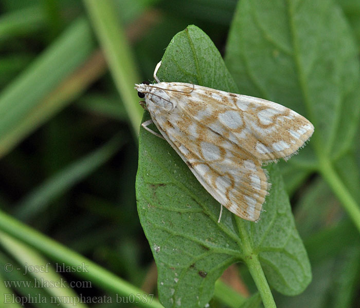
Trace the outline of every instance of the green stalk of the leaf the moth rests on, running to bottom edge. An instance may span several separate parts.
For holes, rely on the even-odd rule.
[[[264,271],[262,270],[259,257],[254,253],[252,248],[251,239],[247,233],[245,222],[240,217],[236,217],[240,238],[242,240],[242,249],[244,252],[244,262],[249,268],[250,274],[259,290],[262,302],[265,308],[276,308],[276,304],[271,293],[270,287],[267,283]]]

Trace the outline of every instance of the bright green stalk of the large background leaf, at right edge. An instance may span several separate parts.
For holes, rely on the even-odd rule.
[[[343,181],[341,181],[337,175],[331,162],[326,157],[322,157],[321,155],[319,156],[319,171],[322,177],[328,182],[337,198],[343,204],[348,215],[360,232],[360,207],[352,198]]]

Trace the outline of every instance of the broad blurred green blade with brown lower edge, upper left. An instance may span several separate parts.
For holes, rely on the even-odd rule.
[[[101,74],[96,59],[86,63],[91,71],[83,67],[94,47],[91,28],[79,17],[0,92],[0,156]]]

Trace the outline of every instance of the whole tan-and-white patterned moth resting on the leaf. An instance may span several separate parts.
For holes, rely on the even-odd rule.
[[[209,194],[231,213],[257,221],[270,184],[263,163],[287,160],[312,136],[297,112],[259,98],[181,82],[136,84],[151,120]],[[154,123],[161,134],[148,126]]]

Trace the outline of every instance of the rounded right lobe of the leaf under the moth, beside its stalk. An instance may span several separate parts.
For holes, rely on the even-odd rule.
[[[295,228],[289,197],[279,167],[267,167],[272,189],[258,224],[249,223],[250,237],[269,283],[280,293],[301,293],[311,281],[311,268],[301,238]]]

